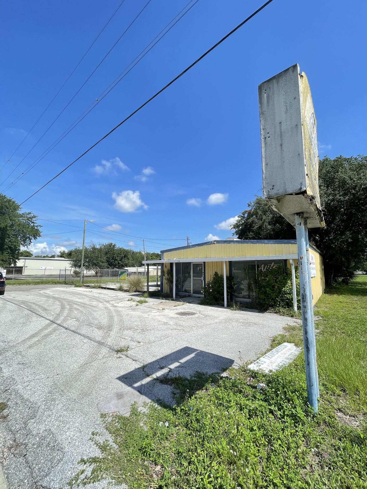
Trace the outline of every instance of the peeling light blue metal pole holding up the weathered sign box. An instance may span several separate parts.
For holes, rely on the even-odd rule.
[[[316,368],[316,348],[315,348],[315,330],[312,328],[312,317],[310,307],[310,285],[308,275],[308,260],[306,250],[306,233],[307,227],[303,222],[303,214],[295,215],[297,251],[298,251],[298,269],[299,269],[299,289],[301,296],[302,312],[302,333],[303,333],[303,350],[304,362],[306,367],[307,399],[314,412],[318,411],[318,379]],[[311,296],[312,297],[312,296]]]

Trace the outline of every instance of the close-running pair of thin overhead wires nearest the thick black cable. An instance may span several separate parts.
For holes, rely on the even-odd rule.
[[[199,1],[199,0],[196,0],[195,3],[193,3],[185,12],[184,14],[176,21],[174,22],[171,27],[169,29],[166,30],[166,32],[164,32],[164,34],[154,43],[154,41],[161,35],[161,33],[168,27],[168,25],[170,23],[172,23],[183,11],[184,9],[192,2],[193,0],[190,0],[182,10],[180,10],[180,12],[170,21],[168,22],[168,24],[163,27],[163,29],[161,30],[161,32],[159,34],[157,34],[157,36],[149,43],[147,44],[144,49],[142,51],[140,51],[140,53],[138,54],[138,56],[136,56],[134,58],[134,60],[123,70],[121,71],[121,73],[115,78],[115,80],[105,89],[103,90],[103,92],[95,99],[93,100],[92,104],[82,113],[79,115],[79,117],[77,117],[74,122],[68,127],[68,129],[66,131],[64,131],[64,133],[62,133],[45,151],[44,153],[42,153],[41,156],[39,156],[33,163],[31,163],[26,169],[25,171],[19,175],[15,180],[14,182],[11,182],[7,187],[5,187],[3,189],[3,192],[6,192],[6,190],[8,190],[12,185],[15,185],[15,183],[17,183],[21,178],[23,178],[27,173],[29,173],[41,160],[43,160],[43,158],[45,156],[48,155],[48,153],[50,151],[52,151],[83,119],[84,117],[86,117],[93,109],[95,109],[97,107],[97,105],[110,93],[111,90],[113,90],[116,85],[118,83],[120,83],[120,81],[125,78],[125,76],[134,68],[137,66],[137,64],[149,53],[149,51],[151,49],[153,49],[153,47],[158,44],[161,39],[172,29],[172,27],[174,27],[177,22],[179,22],[183,17],[184,15],[187,14],[187,12],[189,10],[191,10],[191,8]],[[150,46],[150,44],[154,43],[145,53],[144,51]],[[139,56],[144,53],[141,58],[139,58]],[[139,59],[138,59],[139,58]],[[133,63],[138,59],[138,61],[133,65]],[[133,66],[131,66],[133,65]],[[128,71],[126,71],[129,67],[131,67]],[[126,73],[125,73],[126,71]],[[125,73],[125,74],[123,74]],[[121,76],[123,75],[123,76]],[[120,78],[119,78],[120,77]],[[116,82],[116,80],[118,79],[118,81]],[[110,88],[111,87],[111,88]],[[106,93],[105,93],[106,92]],[[87,112],[87,113],[86,113]],[[78,120],[80,119],[80,120]]]

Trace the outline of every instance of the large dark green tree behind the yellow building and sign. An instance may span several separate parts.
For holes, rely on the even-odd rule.
[[[323,255],[326,284],[347,284],[367,258],[367,157],[325,156],[319,165],[324,229],[310,229]],[[295,230],[262,197],[249,202],[232,225],[240,239],[295,239]]]

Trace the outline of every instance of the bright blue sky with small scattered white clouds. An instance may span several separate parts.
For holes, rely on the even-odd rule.
[[[28,168],[186,5],[151,0],[0,191]],[[147,0],[125,0],[11,158],[121,0],[5,2],[0,179],[21,162]],[[194,1],[192,1],[194,3]],[[83,121],[6,190],[22,202],[138,108],[260,1],[199,0]],[[257,86],[298,63],[310,83],[320,156],[366,154],[364,1],[274,0],[23,208],[43,220],[37,254],[82,241],[159,251],[212,236],[261,195]],[[50,221],[59,221],[50,222]],[[70,226],[75,226],[70,227]],[[98,227],[101,226],[101,227]],[[110,230],[103,229],[109,227]],[[181,241],[179,241],[181,240]]]

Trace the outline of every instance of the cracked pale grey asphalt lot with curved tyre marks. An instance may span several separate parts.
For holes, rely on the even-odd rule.
[[[158,381],[166,372],[220,372],[254,359],[293,321],[197,304],[155,309],[160,299],[137,306],[128,301],[137,295],[7,287],[0,298],[0,445],[9,489],[65,487],[78,460],[97,454],[89,438],[103,432],[98,404],[111,395],[120,412],[131,392],[171,402],[171,388]]]

